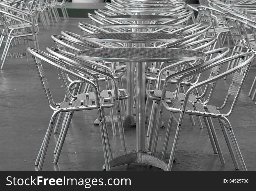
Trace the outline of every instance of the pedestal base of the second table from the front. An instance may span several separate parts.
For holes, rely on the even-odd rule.
[[[146,117],[145,124],[148,125],[150,117]],[[117,123],[117,117],[114,115],[114,121]],[[111,123],[111,117],[110,115],[106,115],[106,122]],[[95,119],[94,124],[99,124],[99,119]],[[129,125],[136,126],[136,114],[133,115],[123,115],[123,125],[124,128],[129,127]],[[161,121],[160,124],[161,127],[165,127],[165,124],[163,121]]]

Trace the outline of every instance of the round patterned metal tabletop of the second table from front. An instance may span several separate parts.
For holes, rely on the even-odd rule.
[[[170,33],[93,33],[81,36],[82,40],[96,42],[125,42],[125,43],[143,43],[143,42],[174,42],[182,40],[183,35]]]

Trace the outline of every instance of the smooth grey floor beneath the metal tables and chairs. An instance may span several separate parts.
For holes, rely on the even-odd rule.
[[[45,50],[47,46],[54,46],[50,38],[51,34],[60,34],[62,30],[80,34],[81,32],[77,28],[79,21],[90,22],[84,18],[70,19],[50,27],[49,31],[41,29],[38,35],[40,49]],[[18,52],[25,53],[23,44],[10,50],[10,53]],[[34,166],[35,158],[52,115],[32,59],[30,59],[30,63],[29,66],[26,64],[26,57],[8,57],[4,69],[0,71],[0,170],[36,169]],[[61,88],[56,71],[45,66],[45,72],[50,88],[53,90],[54,99],[61,101],[64,90]],[[255,73],[256,68],[253,67],[239,96],[236,108],[229,117],[248,170],[256,170],[256,106],[248,97]],[[214,94],[211,104],[220,105],[221,100],[225,97],[230,79],[218,82],[216,94]],[[169,114],[165,112],[163,121],[166,124],[168,117]],[[104,158],[99,126],[93,125],[95,118],[97,118],[95,111],[75,113],[58,165],[53,164],[53,150],[59,134],[53,134],[43,169],[102,170]],[[197,121],[196,126],[191,126],[189,117],[186,116],[177,148],[177,162],[174,163],[173,170],[234,170],[221,128],[218,121],[214,120],[214,122],[226,164],[221,165],[218,155],[214,155],[206,130],[200,129]],[[173,141],[175,126],[173,124],[170,143]],[[120,137],[119,135],[113,137],[111,126],[109,125],[108,128],[112,151],[118,151],[121,149]],[[135,127],[125,130],[128,149],[135,148],[135,132]],[[161,149],[165,133],[166,128],[160,130],[159,149]],[[143,164],[131,164],[114,167],[113,170],[160,169]]]

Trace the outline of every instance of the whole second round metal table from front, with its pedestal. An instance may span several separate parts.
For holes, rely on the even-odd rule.
[[[145,47],[146,43],[158,43],[158,42],[175,42],[182,40],[182,35],[170,34],[170,33],[93,33],[81,36],[82,40],[96,41],[96,42],[118,42],[123,43],[126,47],[134,47],[135,44],[140,47]],[[130,94],[130,98],[127,99],[126,114],[124,116],[124,127],[128,127],[130,124],[136,123],[136,115],[133,112],[134,103],[134,65],[127,65],[127,90]],[[108,121],[108,120],[107,120]],[[147,117],[145,123],[148,124],[149,117]],[[94,122],[98,123],[97,119]],[[161,126],[165,126],[161,123]]]

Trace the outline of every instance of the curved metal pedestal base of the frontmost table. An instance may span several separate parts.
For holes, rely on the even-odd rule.
[[[170,154],[170,152],[166,152],[165,159],[169,159]],[[161,155],[162,151],[156,151],[156,156],[152,156],[151,151],[139,152],[134,150],[127,150],[127,154],[124,155],[124,151],[120,150],[113,153],[113,159],[110,160],[110,167],[127,165],[131,163],[144,163],[166,170],[167,164],[160,159]],[[176,162],[175,160],[177,160],[177,158],[174,159],[174,162]],[[105,164],[103,165],[102,169],[106,169]]]

